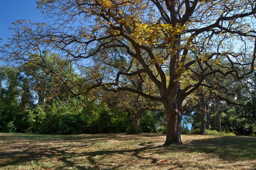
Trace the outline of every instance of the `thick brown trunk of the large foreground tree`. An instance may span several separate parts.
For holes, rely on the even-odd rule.
[[[180,77],[180,74],[176,73],[177,68],[179,67],[178,63],[180,61],[179,47],[181,44],[181,36],[175,35],[173,40],[173,49],[177,49],[177,51],[173,52],[173,55],[170,57],[169,91],[167,94],[165,94],[166,91],[162,91],[162,89],[160,89],[161,94],[163,94],[165,99],[163,106],[166,111],[166,142],[164,145],[182,144],[180,137],[180,124],[182,119],[182,108],[185,107],[182,107],[183,99],[181,97],[183,96],[184,91],[180,89],[180,81],[177,81],[178,77]],[[186,105],[186,102],[184,102],[184,105]]]

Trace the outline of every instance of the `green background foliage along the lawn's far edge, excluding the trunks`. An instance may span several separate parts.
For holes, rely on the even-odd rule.
[[[56,57],[56,56],[55,56]],[[47,57],[50,59],[50,57]],[[30,66],[29,68],[31,68]],[[20,74],[17,68],[6,67],[0,71],[0,79],[6,82],[2,88],[0,83],[0,132],[32,132],[32,133],[132,133],[132,121],[127,113],[121,109],[108,108],[93,97],[92,101],[84,96],[74,97],[70,94],[52,95],[52,92],[33,91],[35,85],[31,81],[33,76],[40,76],[30,72]],[[72,69],[67,69],[67,72]],[[26,72],[29,72],[26,70]],[[77,75],[76,75],[77,76]],[[70,77],[72,78],[72,77]],[[0,81],[2,82],[2,81]],[[38,88],[50,88],[53,82]],[[40,93],[39,93],[40,92]],[[34,93],[37,96],[34,96]],[[51,98],[47,98],[50,93]],[[40,98],[40,99],[39,99]],[[38,103],[34,104],[38,99]],[[90,102],[89,102],[90,101]],[[221,133],[216,129],[215,108],[211,110],[210,127],[206,135],[256,135],[256,106],[241,108],[235,106],[221,113]],[[199,134],[200,111],[195,110],[192,130],[182,124],[182,134]],[[159,111],[145,111],[140,118],[140,133],[166,133],[165,113]]]

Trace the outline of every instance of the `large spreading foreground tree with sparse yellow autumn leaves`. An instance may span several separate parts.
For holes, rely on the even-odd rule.
[[[256,2],[252,0],[37,3],[38,9],[55,22],[18,20],[9,44],[0,50],[3,57],[40,64],[75,95],[103,86],[108,91],[129,91],[161,102],[167,121],[165,144],[182,143],[182,103],[200,86],[214,88],[205,81],[207,77],[224,79],[230,74],[239,80],[254,70]],[[58,53],[65,63],[73,63],[78,73],[86,73],[87,81],[73,84],[44,62],[44,51]],[[126,54],[117,59],[112,51]],[[38,59],[41,61],[36,62]],[[122,63],[131,67],[120,71]],[[131,77],[142,73],[157,93],[128,86]],[[188,81],[183,82],[184,77]],[[80,91],[73,91],[78,86]]]

